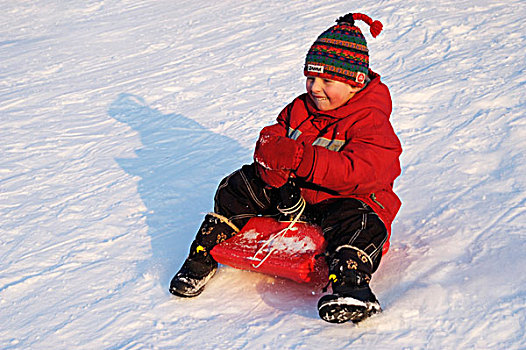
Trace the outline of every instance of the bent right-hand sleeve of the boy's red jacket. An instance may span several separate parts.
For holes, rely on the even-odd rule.
[[[340,195],[369,194],[390,186],[400,174],[400,141],[384,113],[362,113],[347,131],[341,150],[313,146],[312,157],[304,157],[298,169],[303,174],[298,175]]]

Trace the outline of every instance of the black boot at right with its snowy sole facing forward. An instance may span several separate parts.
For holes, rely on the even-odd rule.
[[[372,263],[364,252],[354,248],[337,250],[329,267],[333,294],[318,301],[320,317],[331,323],[358,323],[381,312],[369,287],[371,270]]]

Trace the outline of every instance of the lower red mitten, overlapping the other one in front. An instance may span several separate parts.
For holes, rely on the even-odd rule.
[[[265,169],[296,170],[303,157],[303,144],[286,136],[261,134],[254,160]]]

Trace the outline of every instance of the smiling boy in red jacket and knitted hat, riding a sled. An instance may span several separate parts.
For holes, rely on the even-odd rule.
[[[374,37],[382,29],[363,14],[347,14],[314,42],[304,67],[307,93],[261,131],[254,163],[221,181],[214,213],[205,217],[171,293],[199,295],[217,269],[212,247],[251,217],[277,216],[305,200],[303,219],[320,226],[328,242],[332,294],[319,300],[320,317],[359,322],[381,311],[369,282],[401,205],[393,182],[402,149],[389,122],[389,90],[369,70],[355,20],[369,24]]]

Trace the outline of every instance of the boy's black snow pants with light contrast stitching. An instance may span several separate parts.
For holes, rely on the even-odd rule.
[[[258,177],[255,165],[249,164],[221,181],[214,198],[214,212],[242,228],[254,216],[279,216],[279,200],[278,191],[268,188]],[[328,242],[328,256],[341,246],[352,246],[369,255],[373,265],[371,272],[376,271],[382,258],[382,247],[387,240],[387,230],[367,204],[354,198],[307,204],[305,219],[322,228]],[[202,235],[202,231],[206,230],[197,233],[196,241],[211,249],[218,240],[208,239]]]

